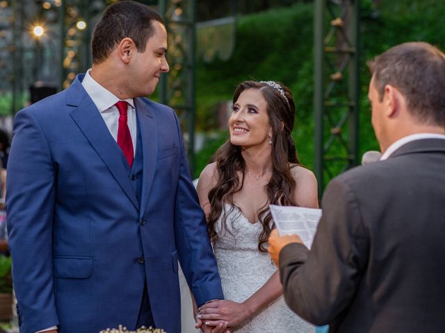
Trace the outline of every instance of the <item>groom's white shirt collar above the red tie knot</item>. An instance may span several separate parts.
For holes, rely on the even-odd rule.
[[[99,112],[104,112],[115,105],[115,103],[118,103],[120,99],[102,87],[102,85],[99,85],[99,83],[90,76],[90,70],[91,69],[88,69],[86,72],[85,77],[82,80],[82,86],[92,99],[93,103],[95,103]],[[131,108],[134,108],[133,99],[125,99],[124,101],[129,103]]]

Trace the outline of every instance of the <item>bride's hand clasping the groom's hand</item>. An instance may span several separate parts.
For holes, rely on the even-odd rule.
[[[237,303],[232,300],[216,300],[200,307],[197,318],[200,318],[206,325],[215,325],[218,321],[227,321],[229,327],[238,326],[248,319],[252,312],[244,303]]]

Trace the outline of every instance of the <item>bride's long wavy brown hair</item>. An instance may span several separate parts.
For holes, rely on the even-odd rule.
[[[269,204],[297,205],[293,198],[296,182],[291,174],[291,167],[299,164],[296,147],[291,136],[295,121],[295,104],[289,88],[277,82],[284,96],[276,87],[257,81],[245,81],[236,87],[233,103],[236,103],[239,95],[247,89],[258,89],[267,103],[267,114],[272,127],[272,176],[266,185],[268,202],[260,208],[258,213],[259,223],[262,225],[258,237],[258,249],[266,252],[265,244],[270,231],[274,228],[272,216],[268,210]],[[273,85],[273,83],[272,83]],[[207,216],[209,234],[212,241],[218,239],[216,221],[224,212],[223,228],[227,230],[227,214],[235,206],[233,196],[243,188],[246,174],[245,162],[241,155],[241,147],[234,146],[230,139],[216,152],[217,183],[209,191],[210,213]],[[238,178],[241,171],[241,179]],[[232,210],[226,212],[223,205],[229,203]]]

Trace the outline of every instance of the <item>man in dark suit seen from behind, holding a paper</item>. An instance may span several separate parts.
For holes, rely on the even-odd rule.
[[[311,250],[275,230],[287,304],[330,332],[442,332],[445,55],[400,44],[369,62],[379,162],[334,178]]]

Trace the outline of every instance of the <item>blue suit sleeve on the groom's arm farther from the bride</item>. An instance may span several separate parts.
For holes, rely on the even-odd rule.
[[[6,182],[8,243],[23,333],[58,325],[51,250],[55,178],[44,133],[24,109],[15,117]]]

